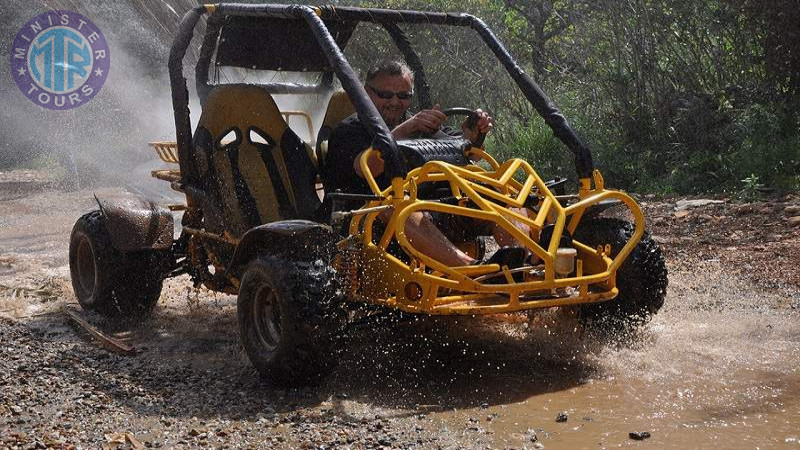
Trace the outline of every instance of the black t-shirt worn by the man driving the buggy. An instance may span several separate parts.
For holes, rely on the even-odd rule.
[[[405,120],[405,117],[402,119]],[[443,127],[432,136],[434,139],[459,136],[461,131],[454,131]],[[413,136],[419,138],[420,136]],[[372,145],[372,136],[367,128],[358,120],[358,115],[344,119],[333,129],[328,139],[328,154],[325,157],[325,191],[340,190],[351,194],[372,194],[367,180],[361,178],[353,168],[353,161],[358,155]],[[391,185],[391,180],[382,173],[375,177],[381,189]],[[358,208],[363,202],[355,201],[348,204],[351,208]]]

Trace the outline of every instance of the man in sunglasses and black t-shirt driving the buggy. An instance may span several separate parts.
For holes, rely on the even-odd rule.
[[[463,136],[474,142],[480,134],[487,134],[492,130],[492,118],[480,109],[475,111],[478,118],[475,128],[469,129],[467,121],[464,121],[461,124],[461,132],[442,127],[447,116],[442,113],[439,105],[409,115],[408,108],[413,97],[413,86],[413,72],[405,63],[399,61],[381,62],[367,72],[364,87],[395,140]],[[325,176],[327,191],[372,193],[364,179],[359,163],[363,152],[371,144],[372,136],[359,121],[357,114],[353,114],[336,126],[328,140]],[[385,188],[391,184],[391,180],[384,173],[384,162],[377,154],[370,157],[367,166],[379,186]],[[348,206],[356,209],[361,205],[355,202]],[[379,216],[379,220],[386,223],[390,215],[391,211],[384,211]],[[466,219],[466,221],[460,219]],[[527,229],[522,224],[517,225]],[[409,242],[417,250],[449,266],[472,265],[481,263],[481,261],[477,261],[461,251],[448,236],[466,240],[470,234],[472,236],[493,234],[501,246],[514,243],[505,230],[492,222],[429,211],[412,213],[406,222],[405,232]],[[498,251],[491,261],[484,262],[519,266],[524,257],[525,251],[521,247],[508,247]]]

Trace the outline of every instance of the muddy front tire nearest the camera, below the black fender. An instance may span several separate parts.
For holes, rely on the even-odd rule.
[[[282,386],[317,384],[335,365],[334,273],[327,266],[261,257],[239,286],[239,334],[264,378]]]

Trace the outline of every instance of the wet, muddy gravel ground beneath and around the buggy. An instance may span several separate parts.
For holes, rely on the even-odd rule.
[[[88,315],[132,356],[71,324],[70,229],[119,189],[0,173],[0,448],[800,448],[800,196],[639,198],[670,284],[631,343],[525,315],[388,324],[285,390],[241,350],[235,298],[184,278],[136,328]]]

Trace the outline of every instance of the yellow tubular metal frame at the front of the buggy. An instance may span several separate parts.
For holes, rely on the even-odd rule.
[[[392,215],[377,244],[373,242],[372,229],[380,211],[365,210],[354,215],[350,222],[350,234],[361,238],[362,264],[358,276],[363,282],[358,283],[357,292],[361,301],[427,314],[488,314],[605,301],[617,295],[616,271],[644,235],[644,216],[639,206],[623,192],[606,190],[598,171],[592,179],[580,180],[579,201],[563,207],[533,168],[521,159],[498,164],[482,150],[473,148],[470,155],[487,161],[491,170],[431,161],[411,170],[405,179],[395,178],[392,186],[381,190],[367,164],[372,155],[378,153],[372,149],[364,152],[359,164],[372,192],[384,200],[369,202],[365,208],[391,205]],[[520,175],[522,182],[515,178]],[[417,186],[434,181],[448,182],[459,205],[418,200]],[[511,209],[524,208],[532,195],[538,198],[538,205],[528,210],[528,217]],[[607,199],[617,199],[631,211],[635,223],[632,238],[613,259],[609,257],[608,245],[591,248],[573,240],[578,250],[576,273],[557,277],[554,261],[560,236],[565,230],[574,232],[587,208]],[[467,201],[477,208],[463,206]],[[406,221],[417,211],[439,211],[496,223],[539,257],[543,276],[514,282],[508,269],[496,264],[450,267],[440,263],[417,250],[406,236]],[[535,214],[530,214],[531,211]],[[529,226],[534,236],[544,226],[553,224],[553,238],[547,248],[514,226],[510,218]],[[386,252],[392,238],[410,256],[408,264]],[[505,274],[504,284],[475,279],[501,270]],[[421,289],[421,298],[406,297],[405,287],[410,283]]]

